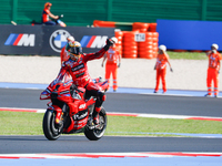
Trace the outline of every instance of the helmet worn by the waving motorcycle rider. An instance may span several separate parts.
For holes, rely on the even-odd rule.
[[[67,51],[71,59],[78,60],[82,54],[82,46],[78,41],[74,41]]]

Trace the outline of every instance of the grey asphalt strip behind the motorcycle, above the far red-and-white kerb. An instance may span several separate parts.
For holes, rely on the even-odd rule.
[[[0,89],[1,107],[47,108],[42,90]],[[107,93],[107,112],[222,117],[221,98],[203,96]]]

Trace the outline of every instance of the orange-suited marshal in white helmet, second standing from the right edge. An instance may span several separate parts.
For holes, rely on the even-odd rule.
[[[162,80],[163,93],[167,92],[167,85],[165,85],[167,63],[170,65],[170,71],[173,72],[170,61],[169,61],[169,55],[167,53],[167,46],[160,45],[159,51],[158,51],[158,56],[157,56],[157,63],[154,66],[154,70],[157,70],[157,85],[155,85],[154,93],[158,93],[159,91],[160,80]]]

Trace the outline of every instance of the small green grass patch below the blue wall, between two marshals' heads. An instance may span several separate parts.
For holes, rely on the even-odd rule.
[[[204,52],[173,52],[168,51],[170,59],[172,60],[208,60]]]

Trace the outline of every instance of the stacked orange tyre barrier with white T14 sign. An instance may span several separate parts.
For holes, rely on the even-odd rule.
[[[157,23],[120,23],[112,21],[94,20],[94,27],[112,27],[131,25],[131,31],[115,31],[118,38],[118,46],[121,55],[127,59],[153,59],[158,53],[159,33],[157,31]],[[138,38],[138,39],[137,39]]]

